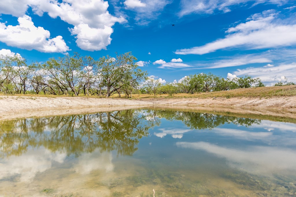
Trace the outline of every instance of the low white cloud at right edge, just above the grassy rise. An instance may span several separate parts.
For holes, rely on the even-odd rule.
[[[252,77],[259,77],[262,82],[268,86],[272,86],[279,82],[281,76],[285,76],[289,82],[296,82],[296,63],[237,69],[234,74],[237,76],[249,75]]]

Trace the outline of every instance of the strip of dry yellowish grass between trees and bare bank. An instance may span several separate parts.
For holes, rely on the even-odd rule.
[[[26,96],[26,97],[69,97],[69,95],[34,95],[34,94],[26,94],[26,95],[4,95],[1,96]],[[195,93],[195,94],[175,94],[173,96],[167,94],[158,94],[156,96],[149,94],[140,94],[140,95],[132,95],[132,99],[157,99],[157,98],[210,98],[210,97],[223,97],[223,98],[232,98],[232,97],[281,97],[281,96],[296,96],[296,85],[289,86],[276,86],[276,87],[254,87],[254,88],[242,88],[242,89],[233,89],[228,91],[218,91],[218,92],[207,92],[207,93]],[[79,95],[79,97],[88,97],[85,95]],[[95,97],[98,96],[89,96]],[[100,97],[105,98],[105,97]],[[110,98],[119,98],[118,94],[111,96]],[[125,98],[122,95],[122,98]]]

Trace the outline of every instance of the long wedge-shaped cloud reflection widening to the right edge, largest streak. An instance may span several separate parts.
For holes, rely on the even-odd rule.
[[[296,170],[296,152],[287,148],[250,146],[247,150],[230,149],[207,142],[177,142],[178,147],[205,150],[226,158],[229,165],[249,172]]]

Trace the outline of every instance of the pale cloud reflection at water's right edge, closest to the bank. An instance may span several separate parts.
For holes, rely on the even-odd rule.
[[[293,123],[284,123],[284,122],[271,122],[271,121],[262,121],[260,125],[252,124],[251,128],[262,128],[267,131],[273,131],[275,128],[280,131],[292,131],[296,132],[296,124]]]

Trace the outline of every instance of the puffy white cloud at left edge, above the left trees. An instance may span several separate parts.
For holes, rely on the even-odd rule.
[[[6,26],[0,23],[0,41],[9,46],[23,48],[27,50],[52,53],[65,53],[69,51],[62,36],[50,39],[50,32],[43,27],[35,27],[31,17],[24,15],[18,19],[19,25]]]

